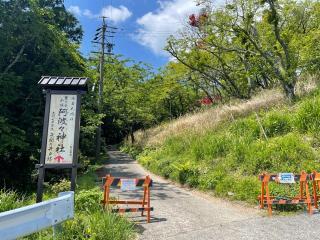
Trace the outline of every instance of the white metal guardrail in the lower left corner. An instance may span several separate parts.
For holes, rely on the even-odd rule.
[[[55,226],[74,216],[74,192],[0,213],[0,239],[11,240]]]

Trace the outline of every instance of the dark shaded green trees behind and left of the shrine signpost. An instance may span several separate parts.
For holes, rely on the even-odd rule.
[[[0,186],[30,187],[39,161],[41,75],[82,75],[78,21],[59,0],[0,1]]]

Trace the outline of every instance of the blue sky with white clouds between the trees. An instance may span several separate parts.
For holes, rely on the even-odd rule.
[[[101,25],[99,16],[118,27],[113,42],[115,54],[143,61],[155,69],[165,65],[163,51],[166,38],[176,34],[188,22],[188,16],[199,11],[194,0],[65,0],[66,8],[84,29],[81,52],[88,56],[94,50],[91,41]]]

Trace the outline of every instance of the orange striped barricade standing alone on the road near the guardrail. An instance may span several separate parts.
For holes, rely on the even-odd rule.
[[[101,203],[104,207],[109,204],[133,204],[133,205],[141,205],[138,208],[116,208],[112,209],[112,212],[141,212],[141,216],[144,215],[144,212],[147,212],[147,222],[150,223],[151,211],[153,211],[153,207],[150,206],[150,190],[152,187],[152,180],[149,176],[146,178],[116,178],[111,175],[107,175],[103,178],[104,182],[104,194],[103,200]],[[119,187],[123,191],[136,190],[138,187],[143,188],[143,199],[138,200],[112,200],[110,199],[110,188],[111,187]]]

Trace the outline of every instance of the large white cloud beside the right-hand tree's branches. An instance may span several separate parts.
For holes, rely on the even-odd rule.
[[[156,11],[148,12],[137,20],[140,28],[134,39],[155,54],[167,56],[163,50],[167,38],[182,29],[189,16],[199,12],[200,7],[194,0],[166,0],[158,1],[158,4]]]

